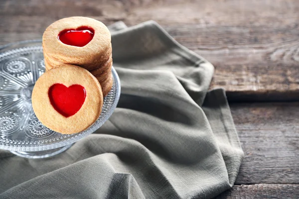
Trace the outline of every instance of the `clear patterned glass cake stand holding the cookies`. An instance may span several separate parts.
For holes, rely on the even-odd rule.
[[[112,67],[113,87],[95,123],[76,134],[52,131],[36,118],[31,105],[32,89],[44,71],[41,40],[0,46],[0,149],[25,158],[57,155],[100,128],[116,108],[121,85]]]

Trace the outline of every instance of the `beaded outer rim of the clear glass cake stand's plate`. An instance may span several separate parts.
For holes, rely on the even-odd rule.
[[[7,53],[10,50],[13,50],[14,45],[28,44],[28,43],[36,43],[36,46],[39,46],[38,44],[41,43],[41,40],[26,40],[26,41],[9,43],[9,44],[0,46],[0,57],[1,57],[1,55],[3,55],[3,50],[4,50],[5,53]],[[2,142],[3,140],[5,140],[5,138],[0,136],[0,149],[9,150],[9,151],[28,151],[28,152],[29,151],[50,150],[50,149],[55,149],[55,148],[59,148],[59,147],[63,147],[63,146],[72,144],[72,143],[77,142],[80,139],[86,137],[87,135],[90,135],[91,133],[95,132],[112,115],[114,109],[117,106],[120,95],[121,95],[121,82],[120,82],[119,76],[118,76],[116,70],[114,69],[114,67],[112,67],[112,75],[113,75],[113,81],[114,81],[115,89],[116,89],[115,99],[114,99],[114,102],[113,102],[112,106],[110,107],[110,111],[107,113],[106,117],[104,117],[98,124],[94,125],[100,119],[102,114],[100,115],[99,119],[97,121],[95,121],[95,123],[92,124],[91,127],[86,129],[85,131],[82,131],[82,132],[76,133],[76,134],[68,134],[68,135],[62,134],[62,136],[72,136],[72,135],[74,135],[73,137],[70,137],[69,139],[63,140],[61,142],[49,143],[49,144],[40,143],[40,144],[36,144],[36,146],[32,146],[32,145],[31,146],[20,146],[20,145],[22,145],[22,143],[18,143],[18,144],[6,143],[5,144],[5,143]],[[37,143],[37,141],[35,141],[35,142]]]

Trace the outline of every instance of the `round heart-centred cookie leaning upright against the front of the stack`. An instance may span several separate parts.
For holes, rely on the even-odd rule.
[[[99,118],[103,106],[97,79],[84,68],[68,64],[40,76],[31,99],[40,122],[62,134],[87,129]]]

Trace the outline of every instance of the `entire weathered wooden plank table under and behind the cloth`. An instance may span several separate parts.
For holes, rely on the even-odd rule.
[[[216,68],[245,159],[218,198],[299,198],[298,0],[1,0],[0,45],[39,39],[53,21],[155,20]]]

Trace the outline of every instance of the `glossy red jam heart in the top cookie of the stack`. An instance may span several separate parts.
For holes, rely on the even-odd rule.
[[[58,40],[67,45],[83,47],[92,40],[94,34],[95,31],[91,27],[81,26],[77,29],[62,30],[58,34]]]

